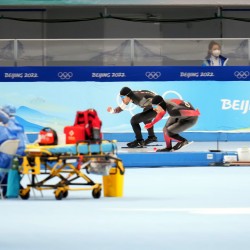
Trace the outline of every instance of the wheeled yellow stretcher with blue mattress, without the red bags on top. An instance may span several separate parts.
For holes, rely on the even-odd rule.
[[[35,190],[54,190],[61,200],[68,191],[91,190],[93,198],[100,198],[102,184],[87,174],[109,175],[112,169],[124,174],[122,161],[116,157],[114,141],[80,141],[76,144],[57,146],[30,145],[23,157],[22,174],[29,175],[30,183],[20,190],[22,199]],[[86,172],[86,174],[85,174]]]

